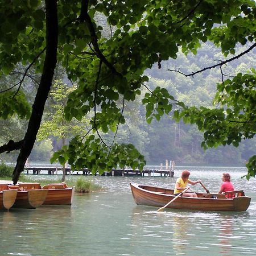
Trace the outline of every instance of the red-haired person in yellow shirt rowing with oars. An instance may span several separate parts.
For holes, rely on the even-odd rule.
[[[187,184],[195,185],[201,182],[201,180],[197,180],[197,181],[189,180],[189,175],[190,175],[190,172],[188,170],[184,170],[183,172],[181,172],[181,177],[177,178],[175,183],[175,189],[174,189],[175,196],[183,192],[185,188],[188,188]],[[185,192],[183,196],[197,197],[196,193],[193,193],[193,192]]]

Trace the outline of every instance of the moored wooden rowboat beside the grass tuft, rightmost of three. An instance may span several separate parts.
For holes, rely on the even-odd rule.
[[[48,189],[48,195],[44,205],[71,205],[75,193],[75,187],[67,187],[65,183],[48,184],[42,187]]]

